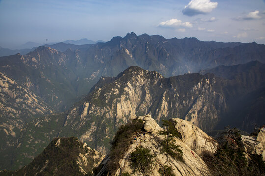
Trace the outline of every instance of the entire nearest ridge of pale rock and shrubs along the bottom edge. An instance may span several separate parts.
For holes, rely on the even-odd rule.
[[[256,136],[229,129],[216,141],[186,120],[164,122],[161,128],[150,114],[131,119],[119,127],[106,156],[76,137],[54,138],[28,165],[0,175],[264,175],[264,126]]]

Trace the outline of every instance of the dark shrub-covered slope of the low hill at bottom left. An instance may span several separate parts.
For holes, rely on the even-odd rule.
[[[60,140],[60,145],[56,144]],[[84,153],[83,144],[75,137],[55,138],[29,165],[14,173],[15,176],[34,175],[75,175],[82,176],[76,157]],[[42,168],[45,168],[42,170]],[[92,168],[89,168],[92,169]]]

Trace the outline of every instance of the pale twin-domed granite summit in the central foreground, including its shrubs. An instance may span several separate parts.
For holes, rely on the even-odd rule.
[[[125,125],[125,127],[120,128],[116,133],[114,138],[115,143],[112,144],[110,153],[94,169],[94,174],[96,176],[216,176],[218,172],[213,171],[212,165],[206,159],[206,154],[208,156],[215,156],[222,150],[222,146],[186,120],[173,118],[168,122],[172,124],[172,128],[170,128],[170,125],[161,128],[151,115],[148,114],[137,117]],[[140,123],[141,128],[131,132],[130,135],[128,133],[130,125],[132,125],[130,123],[134,123],[134,125]],[[171,145],[168,151],[164,150],[166,145],[164,142],[168,139],[167,135],[162,134],[164,131],[171,134],[175,131],[180,134],[178,137],[174,136],[169,140]],[[117,135],[119,136],[118,140],[116,140]],[[261,134],[259,133],[259,135]],[[121,138],[125,136],[128,138],[124,140],[130,142],[125,142],[124,145],[119,146],[120,142],[124,142]],[[264,143],[262,145],[263,147],[265,146]],[[252,147],[252,149],[254,148]],[[179,156],[176,157],[176,155],[169,152],[170,150],[174,151],[174,154],[179,154]],[[122,151],[122,154],[116,154],[117,151]],[[246,150],[244,152],[245,154],[242,157],[251,155]],[[137,157],[136,160],[135,157]],[[229,159],[230,155],[226,155],[226,157]],[[248,162],[252,161],[254,160],[249,158]],[[226,165],[220,167],[226,167]],[[254,171],[253,174],[264,173],[265,167],[262,167],[263,170],[260,170],[261,172]],[[224,173],[219,172],[219,174]],[[250,173],[248,172],[248,174]]]

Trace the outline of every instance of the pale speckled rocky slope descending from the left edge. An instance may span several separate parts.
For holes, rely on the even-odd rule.
[[[25,131],[26,121],[33,115],[51,114],[43,100],[0,72],[0,168],[10,168],[14,149]],[[32,159],[32,158],[31,158]]]

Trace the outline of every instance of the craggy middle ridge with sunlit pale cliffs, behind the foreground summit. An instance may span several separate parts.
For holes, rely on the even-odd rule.
[[[234,104],[240,107],[237,103],[241,99],[240,92],[250,96],[249,88],[244,89],[241,81],[235,86],[234,80],[212,74],[164,78],[155,71],[131,66],[117,77],[106,79],[106,84],[105,79],[102,78],[78,106],[68,111],[64,124],[76,130],[88,127],[89,130],[82,131],[79,137],[104,153],[107,152],[104,144],[113,138],[118,126],[136,116],[150,113],[158,122],[169,117],[185,119],[208,132],[220,121],[224,122]],[[264,80],[263,77],[257,79]],[[257,82],[256,88],[260,88],[262,82]],[[147,128],[153,131],[151,124]]]

